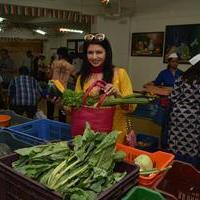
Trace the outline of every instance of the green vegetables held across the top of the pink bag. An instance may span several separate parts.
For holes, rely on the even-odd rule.
[[[75,92],[73,90],[66,89],[62,95],[62,103],[64,106],[80,107],[83,105],[83,95],[83,92]],[[86,100],[86,105],[96,106],[98,99],[98,96],[88,96]],[[140,96],[137,94],[117,98],[114,96],[107,96],[102,106],[115,106],[122,104],[147,104],[150,103],[152,100],[152,97]]]

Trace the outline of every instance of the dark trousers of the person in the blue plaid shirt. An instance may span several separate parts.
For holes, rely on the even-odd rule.
[[[37,112],[37,106],[17,106],[17,105],[11,105],[11,110],[14,110],[17,114],[23,115],[26,113],[28,118],[32,118],[35,116],[35,113]]]

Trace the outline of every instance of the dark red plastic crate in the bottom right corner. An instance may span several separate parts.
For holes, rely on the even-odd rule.
[[[175,160],[172,168],[154,188],[170,200],[199,200],[200,171],[192,165]]]

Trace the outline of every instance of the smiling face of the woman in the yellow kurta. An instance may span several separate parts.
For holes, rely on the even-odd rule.
[[[103,66],[106,58],[106,51],[101,45],[90,44],[87,49],[87,58],[93,67]]]

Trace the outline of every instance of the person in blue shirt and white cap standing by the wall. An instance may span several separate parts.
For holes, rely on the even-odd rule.
[[[169,117],[169,99],[168,96],[171,94],[175,80],[178,79],[182,71],[178,68],[178,55],[176,53],[171,53],[168,56],[168,65],[167,69],[162,70],[157,78],[144,85],[145,91],[159,95],[160,98],[154,103],[155,114],[160,113],[159,122],[162,125],[162,134],[161,134],[161,146],[162,148],[167,148],[167,130],[168,130],[168,117]],[[161,114],[162,111],[162,114]],[[157,115],[157,114],[156,114]],[[156,119],[156,117],[155,117]],[[157,121],[156,121],[157,122]]]

